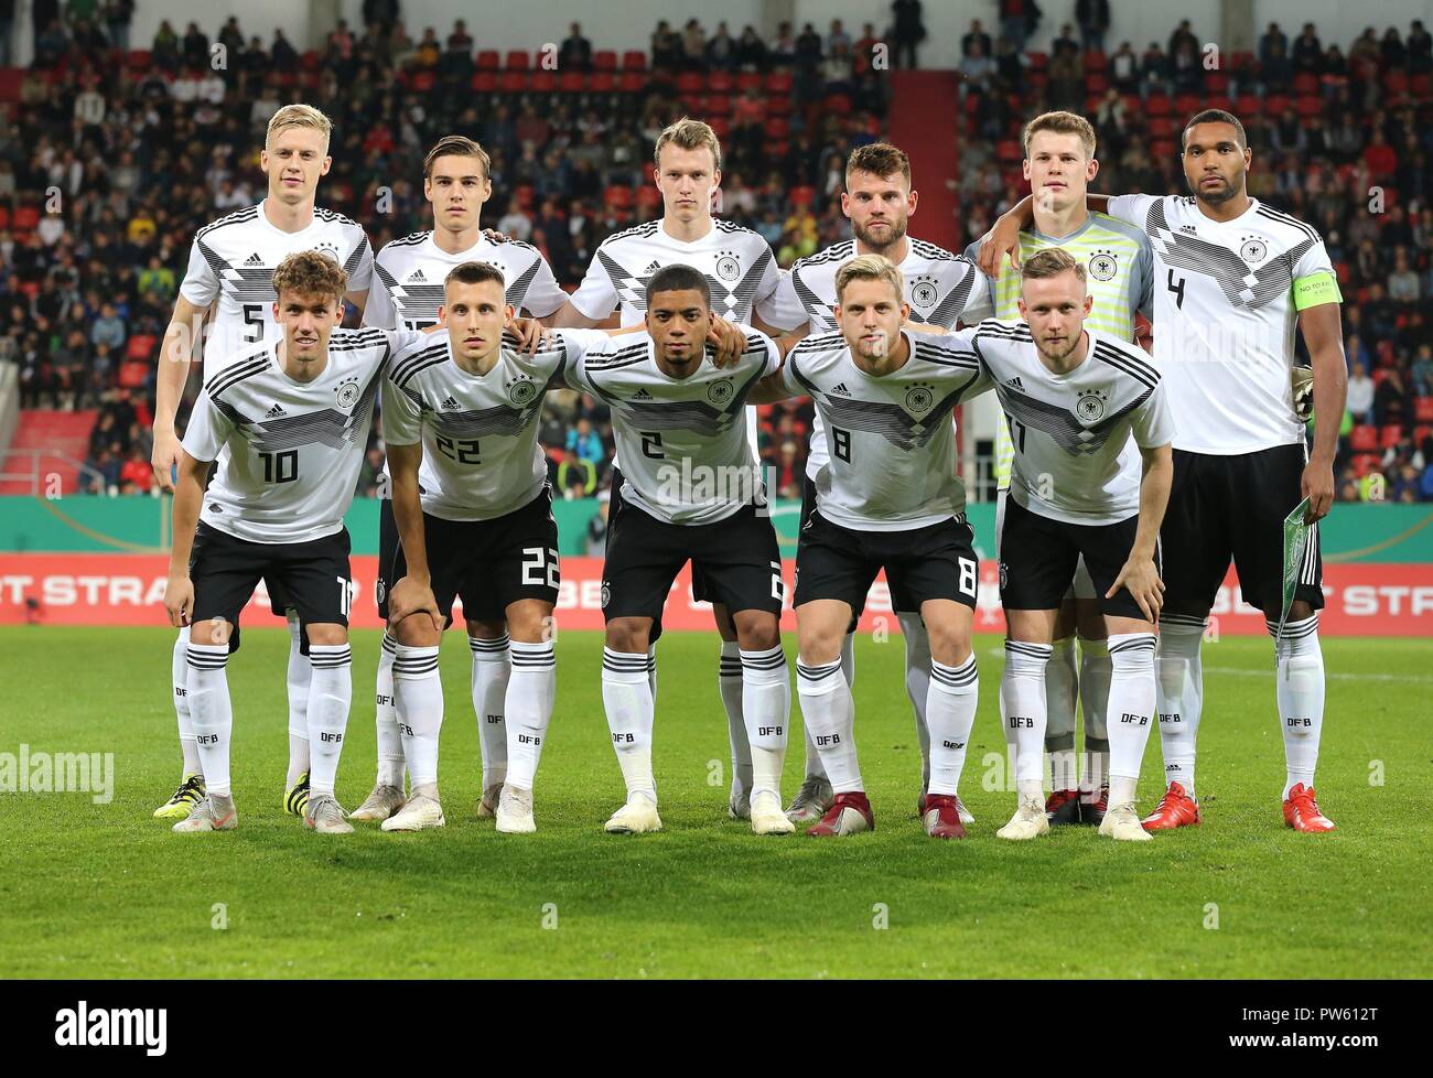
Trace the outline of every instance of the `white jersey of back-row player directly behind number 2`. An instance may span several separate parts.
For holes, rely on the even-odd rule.
[[[688,244],[668,235],[661,221],[648,221],[602,241],[572,305],[588,318],[619,311],[622,325],[639,323],[646,314],[646,282],[678,262],[706,277],[712,311],[732,323],[749,323],[781,280],[771,244],[749,228],[714,218],[712,231]]]

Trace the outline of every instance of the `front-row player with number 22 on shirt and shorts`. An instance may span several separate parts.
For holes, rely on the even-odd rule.
[[[552,611],[559,583],[537,424],[547,381],[567,353],[560,340],[535,356],[514,338],[504,347],[512,318],[503,272],[463,262],[444,282],[438,320],[447,331],[408,347],[383,383],[393,500],[384,502],[391,519],[381,528],[378,606],[396,638],[394,702],[413,776],[411,797],[383,821],[385,831],[444,823],[438,644],[456,596],[474,654],[481,648],[497,662],[512,657],[500,702],[507,774],[497,830],[537,830],[533,780],[557,691]],[[477,715],[480,724],[492,718]]]

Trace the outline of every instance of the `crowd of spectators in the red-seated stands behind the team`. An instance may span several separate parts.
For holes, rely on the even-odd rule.
[[[824,34],[782,26],[774,42],[662,23],[646,52],[620,56],[593,50],[575,23],[549,70],[540,54],[484,49],[463,20],[414,40],[381,0],[364,4],[363,30],[340,22],[304,54],[282,32],[268,46],[246,37],[236,17],[212,40],[165,23],[148,50],[126,52],[129,0],[70,4],[69,22],[37,4],[50,7],[19,99],[0,106],[0,350],[19,364],[24,407],[99,409],[85,476],[112,493],[150,490],[153,364],[189,242],[262,196],[258,145],[288,100],[334,119],[318,201],[364,224],[375,251],[427,226],[423,153],[459,130],[492,155],[483,224],[537,245],[569,287],[605,237],[661,214],[649,148],[676,116],[716,129],[719,214],[787,267],[848,235],[843,163],[881,138],[888,109],[876,27],[853,36],[838,20]],[[894,7],[883,33],[910,63],[919,4]],[[1315,225],[1338,267],[1350,364],[1340,496],[1433,500],[1433,39],[1422,23],[1369,29],[1347,49],[1313,24],[1293,42],[1271,24],[1257,53],[1209,65],[1212,46],[1188,22],[1164,44],[1106,53],[1108,4],[1070,7],[1076,23],[1056,34],[1026,19],[992,34],[977,20],[962,40],[960,176],[949,182],[964,238],[1023,194],[1019,129],[1046,108],[1095,122],[1096,189],[1151,192],[1182,189],[1182,119],[1230,108],[1255,153],[1250,194]],[[808,406],[762,419],[780,495],[800,490],[808,424]],[[612,436],[600,406],[555,400],[543,443],[563,496],[602,487]],[[374,436],[361,493],[381,459]]]

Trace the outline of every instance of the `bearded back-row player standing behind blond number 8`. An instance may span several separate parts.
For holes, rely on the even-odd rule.
[[[843,239],[824,251],[801,258],[784,274],[771,301],[767,320],[782,328],[797,328],[790,338],[840,333],[835,317],[835,274],[857,255],[883,255],[896,264],[906,281],[906,301],[911,317],[954,330],[967,307],[982,295],[983,278],[973,262],[953,255],[934,244],[906,235],[906,225],[916,212],[917,192],[910,183],[910,159],[904,151],[884,142],[874,142],[853,151],[845,162],[845,191],[841,209],[851,219],[851,239]],[[967,317],[966,321],[970,321]],[[815,509],[815,483],[827,466],[825,429],[817,411],[811,426],[811,453],[807,457],[805,482],[801,490],[801,522]],[[952,467],[954,462],[952,460]],[[926,697],[930,690],[930,639],[920,621],[920,612],[910,596],[891,592],[896,616],[906,639],[906,694],[916,711],[916,734],[920,741],[920,814],[926,814],[926,787],[930,784],[930,733],[926,728]],[[854,611],[860,618],[864,602]],[[856,684],[854,654],[856,622],[841,642],[841,669],[847,685]],[[831,783],[821,770],[821,754],[805,728],[807,777],[787,816],[794,823],[820,820],[831,807]],[[973,817],[956,798],[963,823]]]

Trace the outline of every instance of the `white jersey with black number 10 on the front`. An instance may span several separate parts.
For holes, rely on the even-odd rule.
[[[278,364],[279,341],[251,345],[209,376],[185,452],[218,460],[199,519],[255,543],[334,535],[354,499],[388,358],[420,334],[334,330],[328,364],[310,383]]]

